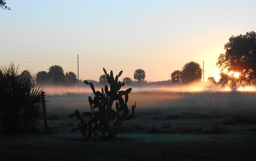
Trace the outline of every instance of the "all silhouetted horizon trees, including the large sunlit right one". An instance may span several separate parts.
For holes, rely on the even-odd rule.
[[[222,85],[238,86],[246,84],[256,84],[256,33],[247,32],[245,35],[231,36],[224,45],[225,53],[220,54],[216,65],[220,68],[220,81]],[[170,74],[174,84],[187,84],[191,82],[200,82],[202,78],[202,68],[194,61],[186,63],[181,70],[176,70]],[[23,75],[30,75],[24,71]],[[145,79],[145,71],[137,69],[134,72],[134,79],[138,84]],[[209,77],[207,81],[216,83],[214,77]],[[73,72],[63,73],[59,65],[53,65],[49,71],[41,71],[36,75],[37,84],[55,84],[55,85],[75,85],[76,75]],[[131,85],[132,78],[125,77],[123,82]],[[99,84],[106,84],[105,75],[99,77]]]

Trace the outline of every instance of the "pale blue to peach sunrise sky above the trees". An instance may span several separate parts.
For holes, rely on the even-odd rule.
[[[216,62],[229,37],[256,31],[256,1],[14,1],[0,9],[0,66],[33,74],[59,65],[81,80],[102,68],[133,79],[170,79],[195,61],[219,80]],[[77,64],[79,58],[79,64]],[[202,78],[203,81],[203,78]]]

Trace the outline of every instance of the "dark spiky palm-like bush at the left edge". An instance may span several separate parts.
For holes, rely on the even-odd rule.
[[[42,116],[42,88],[32,76],[19,75],[13,63],[0,69],[0,132],[20,134],[36,131]]]

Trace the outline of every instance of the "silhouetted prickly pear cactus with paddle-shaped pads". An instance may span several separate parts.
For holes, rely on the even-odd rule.
[[[105,68],[103,68],[104,74],[108,80],[110,89],[108,85],[101,88],[101,91],[95,91],[94,85],[84,80],[85,84],[91,86],[94,98],[89,96],[89,104],[91,107],[91,112],[83,112],[83,116],[90,118],[87,122],[84,120],[79,111],[75,110],[73,116],[77,119],[78,127],[72,129],[71,131],[79,130],[86,140],[108,140],[117,141],[117,133],[124,121],[131,120],[134,116],[134,111],[136,107],[132,105],[132,114],[129,114],[129,108],[127,102],[129,99],[128,94],[131,93],[132,88],[126,90],[120,90],[124,83],[118,81],[121,76],[122,71],[114,78],[113,71],[110,75],[106,73]],[[124,96],[124,99],[123,99]],[[115,110],[112,107],[115,103]]]

